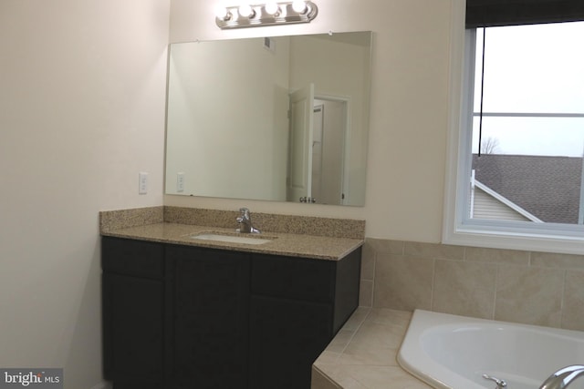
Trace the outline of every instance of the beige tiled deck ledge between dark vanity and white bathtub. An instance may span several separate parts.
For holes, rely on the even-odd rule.
[[[429,389],[397,353],[412,312],[359,307],[312,366],[311,389]]]

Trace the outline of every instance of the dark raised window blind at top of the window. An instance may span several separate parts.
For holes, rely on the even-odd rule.
[[[466,28],[584,20],[584,0],[466,0]]]

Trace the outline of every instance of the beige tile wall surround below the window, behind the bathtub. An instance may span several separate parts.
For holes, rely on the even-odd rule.
[[[367,238],[360,305],[584,331],[584,255]]]

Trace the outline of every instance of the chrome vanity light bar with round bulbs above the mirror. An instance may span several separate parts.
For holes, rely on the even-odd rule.
[[[265,5],[237,5],[217,10],[215,23],[220,28],[276,26],[292,23],[309,23],[317,17],[318,7],[311,1],[295,0]]]

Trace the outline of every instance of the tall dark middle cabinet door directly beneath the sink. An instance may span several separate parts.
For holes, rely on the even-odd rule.
[[[176,388],[246,388],[249,258],[173,246],[173,382]]]

